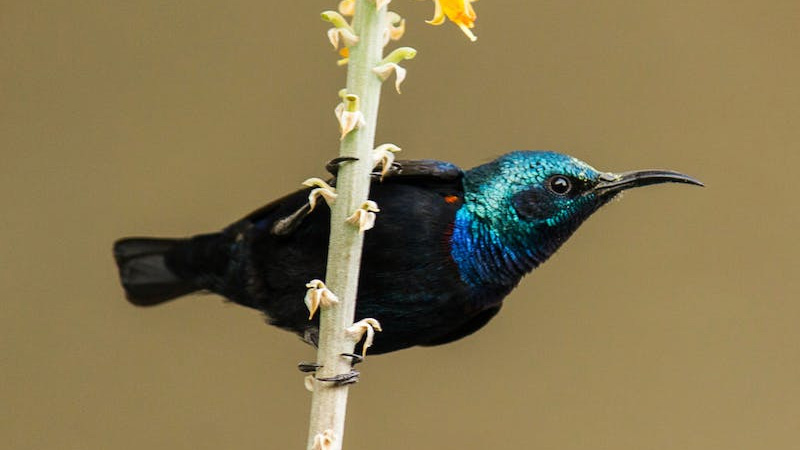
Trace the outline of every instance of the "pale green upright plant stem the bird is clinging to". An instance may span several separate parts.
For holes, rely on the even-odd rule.
[[[340,156],[356,157],[358,161],[342,164],[336,178],[338,197],[331,208],[325,282],[339,297],[339,303],[323,308],[320,313],[317,363],[322,367],[317,372],[319,377],[331,377],[351,370],[350,359],[341,354],[352,353],[354,348],[353,341],[345,335],[345,328],[354,321],[363,233],[345,220],[369,195],[369,174],[373,168],[371,152],[375,145],[381,90],[381,80],[372,69],[382,59],[386,26],[386,6],[376,10],[374,0],[356,2],[353,29],[359,41],[350,47],[347,93],[359,97],[366,125],[348,133],[339,148]],[[312,449],[317,434],[331,430],[334,439],[329,449],[339,450],[344,438],[348,387],[317,380],[313,386],[307,448]]]

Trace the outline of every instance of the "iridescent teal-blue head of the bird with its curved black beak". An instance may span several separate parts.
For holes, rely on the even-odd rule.
[[[569,155],[518,151],[466,172],[462,221],[527,272],[623,190],[668,182],[702,186],[670,170],[601,172]]]

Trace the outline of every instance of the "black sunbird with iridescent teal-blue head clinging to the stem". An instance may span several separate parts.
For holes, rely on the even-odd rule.
[[[329,164],[335,185],[339,160]],[[366,231],[356,317],[377,319],[371,354],[456,341],[486,325],[524,275],[544,263],[622,191],[661,183],[703,186],[671,170],[603,172],[552,151],[514,151],[469,170],[395,161],[371,174],[380,206]],[[316,344],[306,283],[324,278],[330,232],[310,188],[272,201],[221,231],[188,238],[123,238],[113,253],[127,299],[153,306],[211,292],[263,312]]]

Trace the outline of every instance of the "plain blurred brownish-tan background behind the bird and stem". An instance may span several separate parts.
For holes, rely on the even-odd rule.
[[[312,349],[211,295],[129,305],[111,244],[324,175],[334,7],[2,2],[0,447],[302,448]],[[402,158],[552,149],[707,187],[628,193],[477,334],[369,358],[346,448],[797,448],[800,3],[486,0],[474,44],[391,7],[419,51],[381,100]]]

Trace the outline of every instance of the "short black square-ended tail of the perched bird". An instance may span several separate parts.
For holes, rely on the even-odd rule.
[[[126,297],[134,305],[151,306],[212,289],[227,269],[227,241],[221,233],[120,239],[114,243],[114,259]]]

